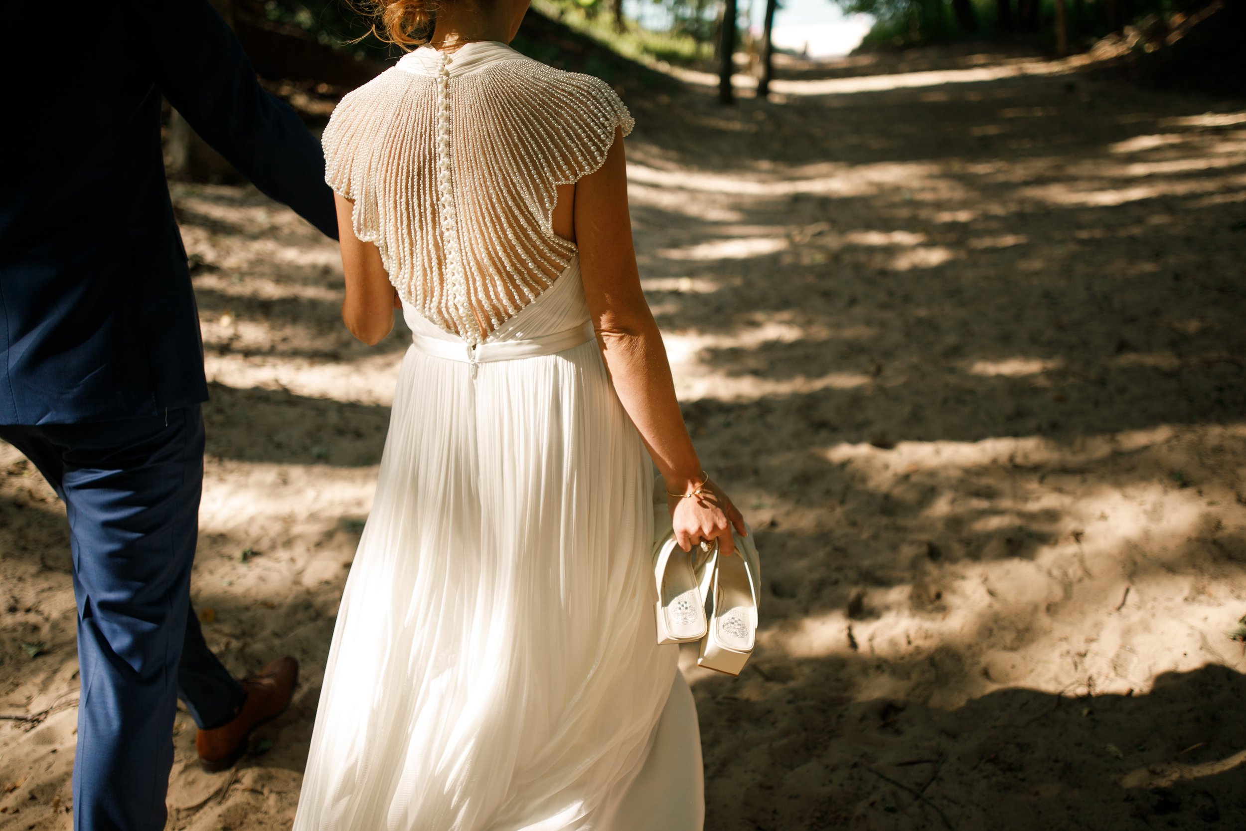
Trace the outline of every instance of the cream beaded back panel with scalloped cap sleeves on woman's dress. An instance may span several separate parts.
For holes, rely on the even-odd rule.
[[[461,60],[468,46],[483,49]],[[477,344],[571,264],[576,244],[551,224],[556,188],[599,168],[632,125],[594,77],[501,44],[421,49],[334,110],[325,179],[355,203],[355,235],[380,249],[402,300]]]

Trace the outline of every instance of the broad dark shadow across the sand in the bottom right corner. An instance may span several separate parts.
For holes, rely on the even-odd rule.
[[[1166,673],[1146,694],[1001,689],[953,708],[855,701],[810,680],[860,674],[854,663],[871,662],[800,660],[781,686],[697,685],[701,724],[715,725],[708,831],[1246,822],[1246,677],[1231,669]]]

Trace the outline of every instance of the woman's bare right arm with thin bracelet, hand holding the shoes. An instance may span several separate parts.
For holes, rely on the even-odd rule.
[[[640,289],[625,168],[619,133],[601,169],[576,183],[576,240],[584,295],[611,380],[667,491],[690,493],[701,483],[701,463],[679,412],[658,324]],[[675,536],[684,551],[716,538],[721,551],[730,553],[730,525],[743,534],[744,520],[716,485],[706,485],[705,498],[670,500]]]

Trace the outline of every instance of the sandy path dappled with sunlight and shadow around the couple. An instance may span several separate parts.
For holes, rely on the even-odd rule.
[[[1075,69],[630,102],[645,288],[766,562],[753,665],[688,672],[709,831],[1246,826],[1246,111]],[[232,774],[179,716],[171,827],[283,829],[404,334],[351,343],[285,209],[177,202],[216,381],[196,602],[231,668],[305,681]],[[0,829],[66,829],[64,512],[0,473],[0,714],[51,710],[0,725]]]

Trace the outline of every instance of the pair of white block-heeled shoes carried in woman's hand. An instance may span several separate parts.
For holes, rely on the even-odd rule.
[[[685,552],[675,542],[665,505],[654,507],[653,577],[658,589],[658,643],[700,642],[698,667],[739,675],[758,632],[761,563],[753,543],[731,531],[735,553],[721,557],[718,541]]]

